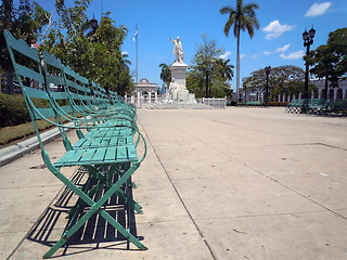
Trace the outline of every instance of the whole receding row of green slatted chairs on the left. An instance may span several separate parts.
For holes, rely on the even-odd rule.
[[[141,206],[125,188],[134,186],[131,176],[146,155],[145,140],[136,122],[136,107],[121,102],[115,92],[111,91],[108,96],[102,87],[64,66],[54,55],[44,52],[40,58],[36,49],[15,39],[10,31],[5,30],[4,37],[44,165],[78,196],[76,205],[68,211],[65,232],[43,258],[51,257],[94,213],[103,217],[139,249],[146,249],[129,229],[104,209],[106,202],[117,196],[127,207],[142,213]],[[51,91],[53,86],[61,91]],[[34,100],[41,102],[34,103]],[[40,119],[56,126],[61,132],[65,154],[56,161],[51,160],[41,141],[37,128]],[[73,126],[66,126],[66,121]],[[67,136],[67,129],[76,131],[78,141],[75,144]],[[88,180],[76,185],[63,174],[61,169],[64,167],[82,167],[88,171]],[[101,197],[94,198],[101,191]]]

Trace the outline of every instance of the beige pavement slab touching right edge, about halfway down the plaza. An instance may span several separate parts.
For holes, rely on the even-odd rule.
[[[271,176],[338,172],[347,159],[347,151],[320,144],[255,146],[229,154]]]

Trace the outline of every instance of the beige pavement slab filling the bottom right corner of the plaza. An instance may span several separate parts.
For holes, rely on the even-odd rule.
[[[217,259],[346,259],[346,220],[329,211],[196,220]]]

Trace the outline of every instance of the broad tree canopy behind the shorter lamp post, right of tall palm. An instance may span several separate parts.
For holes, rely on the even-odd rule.
[[[304,92],[305,72],[304,69],[284,65],[273,67],[269,75],[269,101],[273,100],[279,94],[285,95],[298,95]],[[265,91],[267,84],[267,75],[264,68],[253,72],[249,77],[243,79],[243,86],[247,86],[248,89]],[[317,87],[309,86],[309,92],[314,91],[317,93]]]

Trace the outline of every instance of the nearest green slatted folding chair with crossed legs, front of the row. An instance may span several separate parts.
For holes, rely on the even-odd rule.
[[[138,156],[137,146],[131,142],[131,136],[128,139],[119,139],[112,136],[110,139],[102,139],[103,146],[80,146],[67,147],[67,152],[62,158],[56,161],[52,161],[49,157],[48,151],[44,148],[40,138],[36,121],[44,119],[53,126],[65,129],[66,127],[61,123],[61,119],[66,117],[70,121],[76,122],[73,129],[90,129],[93,126],[86,126],[86,121],[77,119],[73,114],[74,107],[66,105],[59,105],[60,98],[64,98],[64,94],[50,94],[48,86],[41,70],[41,61],[39,58],[36,49],[29,48],[25,41],[16,40],[10,31],[4,31],[4,38],[10,52],[11,61],[15,70],[15,76],[21,86],[22,93],[25,98],[26,105],[29,110],[29,115],[40,144],[41,156],[44,165],[49,171],[62,181],[68,188],[70,188],[78,197],[78,202],[68,213],[69,223],[62,237],[56,242],[54,246],[43,256],[43,258],[51,257],[60,247],[62,247],[72,236],[75,234],[94,213],[99,213],[111,225],[113,225],[124,237],[129,239],[139,249],[146,249],[146,247],[134,237],[128,230],[119,224],[115,218],[110,216],[102,206],[115,195],[124,195],[121,186],[127,184],[134,171],[140,167],[146,154],[146,145],[143,135],[133,128],[141,136],[144,145],[144,152],[142,156]],[[33,81],[38,82],[39,88],[36,89],[33,86]],[[63,83],[63,82],[60,82]],[[60,96],[57,99],[57,96]],[[33,100],[41,100],[42,104],[47,104],[44,107],[37,107]],[[64,110],[64,113],[62,113]],[[54,119],[51,119],[54,118]],[[113,125],[111,125],[113,127]],[[129,127],[129,126],[127,126]],[[95,127],[94,127],[95,128]],[[97,126],[97,129],[106,128],[106,126]],[[95,131],[92,129],[92,131]],[[64,134],[63,134],[64,135]],[[117,140],[117,142],[115,141]],[[86,139],[85,142],[93,141],[99,142],[97,139]],[[75,185],[68,178],[66,178],[61,168],[63,167],[76,167],[81,166],[88,170],[89,178],[82,186]],[[120,171],[123,168],[125,171]],[[111,182],[113,176],[116,181]],[[93,195],[105,188],[105,193],[98,200],[93,199]],[[137,211],[141,212],[141,208],[128,197],[125,200],[130,204]],[[88,206],[88,210],[80,219],[77,219],[80,208]]]

